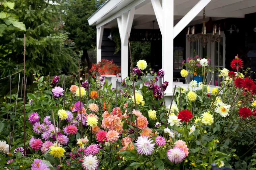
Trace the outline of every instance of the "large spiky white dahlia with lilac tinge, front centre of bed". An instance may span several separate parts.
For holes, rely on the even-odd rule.
[[[139,136],[135,143],[138,154],[151,155],[155,148],[155,144],[152,144],[153,141],[152,138],[148,139],[147,136]]]

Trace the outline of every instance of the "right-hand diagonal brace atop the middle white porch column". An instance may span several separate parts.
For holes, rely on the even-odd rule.
[[[123,34],[123,37],[122,37],[123,45],[128,45],[127,33],[130,36],[131,29],[132,29],[132,22],[133,22],[133,18],[134,18],[134,13],[135,13],[135,8],[132,8],[128,12],[126,23],[125,23],[125,27],[124,27],[124,34]],[[127,60],[127,62],[128,62],[128,60]]]

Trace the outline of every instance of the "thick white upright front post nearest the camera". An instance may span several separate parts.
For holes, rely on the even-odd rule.
[[[173,1],[163,0],[163,40],[162,68],[165,71],[164,80],[169,82],[165,93],[172,95],[173,84]]]

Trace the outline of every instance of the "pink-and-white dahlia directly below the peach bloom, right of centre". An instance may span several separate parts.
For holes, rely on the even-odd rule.
[[[167,157],[171,162],[175,164],[181,163],[185,159],[185,152],[182,148],[175,146],[173,149],[167,151]]]

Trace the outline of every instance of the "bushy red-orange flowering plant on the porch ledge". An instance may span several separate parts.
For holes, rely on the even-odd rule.
[[[102,59],[97,64],[92,64],[92,68],[90,72],[92,73],[93,77],[96,74],[98,75],[117,75],[120,73],[121,67],[113,62],[113,60],[109,61],[106,59]]]

